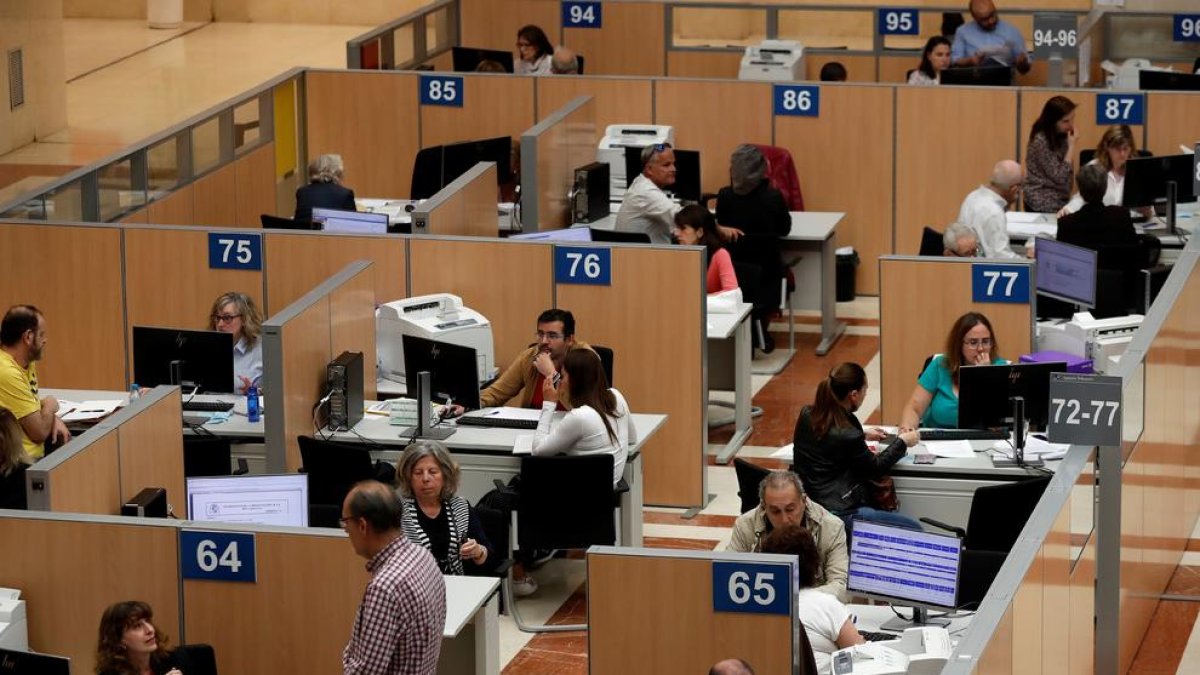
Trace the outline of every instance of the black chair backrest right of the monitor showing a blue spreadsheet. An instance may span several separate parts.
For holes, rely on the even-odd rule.
[[[1010,551],[1049,484],[1050,477],[1043,476],[977,489],[962,548]]]

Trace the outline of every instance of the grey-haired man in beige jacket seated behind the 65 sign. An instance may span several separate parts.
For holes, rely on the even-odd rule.
[[[840,518],[804,496],[800,477],[793,471],[772,471],[762,479],[758,508],[738,516],[726,550],[757,552],[767,532],[787,524],[802,525],[812,533],[821,554],[816,590],[845,601],[850,575],[846,526]]]

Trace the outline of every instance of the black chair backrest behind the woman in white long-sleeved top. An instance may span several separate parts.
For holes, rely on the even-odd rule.
[[[612,455],[521,460],[517,548],[584,549],[617,540]]]

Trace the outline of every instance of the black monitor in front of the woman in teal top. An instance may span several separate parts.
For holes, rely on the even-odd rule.
[[[1067,372],[1063,362],[965,365],[959,369],[959,426],[1012,428],[1013,398],[1025,400],[1028,428],[1045,429],[1050,413],[1050,374]]]

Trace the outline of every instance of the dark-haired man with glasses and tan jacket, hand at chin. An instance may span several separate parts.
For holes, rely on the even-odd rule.
[[[508,370],[479,394],[480,405],[503,406],[520,394],[515,405],[523,408],[540,408],[541,384],[546,378],[551,378],[558,387],[566,352],[590,348],[575,340],[575,316],[571,312],[566,310],[541,312],[538,316],[538,341],[517,354]],[[568,410],[569,406],[566,389],[560,389],[558,410]]]

